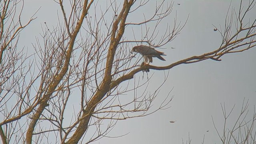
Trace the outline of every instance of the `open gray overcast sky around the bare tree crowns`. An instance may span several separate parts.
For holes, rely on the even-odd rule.
[[[180,5],[178,5],[180,3]],[[239,0],[233,0],[232,6],[238,9]],[[29,4],[29,5],[28,5]],[[155,1],[137,11],[138,17],[129,19],[140,20],[139,16],[149,14],[154,9]],[[188,22],[181,34],[171,43],[164,46],[160,51],[167,56],[166,62],[154,60],[153,65],[167,65],[193,55],[200,55],[210,52],[220,46],[221,36],[214,32],[212,24],[224,26],[224,20],[229,0],[176,0],[172,16],[177,12],[178,20]],[[25,35],[21,40],[22,46],[30,46],[35,36],[38,36],[40,24],[46,22],[48,26],[56,25],[57,9],[61,15],[58,5],[50,0],[28,0],[25,2],[24,15],[28,16],[41,6],[38,18],[22,33]],[[254,8],[254,14],[256,8]],[[60,16],[62,17],[62,16]],[[255,19],[255,15],[251,15]],[[172,24],[173,17],[164,22]],[[128,32],[125,33],[129,36]],[[138,36],[139,37],[139,36]],[[133,44],[134,45],[134,44]],[[170,49],[174,47],[175,49]],[[171,95],[174,95],[167,110],[160,110],[150,116],[122,120],[108,136],[120,136],[120,138],[102,138],[95,144],[180,144],[182,138],[188,139],[188,133],[193,144],[202,142],[205,135],[205,144],[220,143],[218,135],[214,130],[212,118],[217,127],[222,130],[223,116],[220,103],[226,104],[230,110],[236,104],[234,116],[238,116],[244,98],[250,102],[250,112],[253,112],[253,105],[256,104],[256,48],[242,53],[227,54],[221,62],[205,60],[195,64],[183,64],[170,70],[168,81],[161,88],[154,105],[159,105],[162,98],[168,94],[168,90],[174,88]],[[167,72],[167,71],[166,71]],[[162,71],[150,70],[149,76],[154,73],[149,89],[154,85],[161,84]],[[142,76],[142,73],[137,74]],[[146,80],[146,79],[144,79]],[[251,116],[252,113],[249,113]],[[170,123],[169,121],[176,121]],[[234,121],[230,121],[231,123]],[[209,130],[209,132],[206,132]]]

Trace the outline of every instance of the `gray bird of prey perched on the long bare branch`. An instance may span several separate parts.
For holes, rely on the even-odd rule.
[[[144,61],[145,61],[145,64],[149,64],[150,62],[153,62],[153,59],[152,57],[157,57],[159,58],[160,60],[164,60],[165,59],[162,57],[162,56],[166,56],[164,54],[164,52],[159,52],[157,50],[155,50],[154,48],[150,48],[150,46],[134,46],[132,48],[132,52],[138,52],[140,53],[143,58],[144,58]]]

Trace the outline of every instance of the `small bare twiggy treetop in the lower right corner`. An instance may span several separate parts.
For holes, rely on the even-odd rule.
[[[248,109],[249,103],[247,101],[243,101],[242,108],[240,114],[237,119],[234,120],[234,124],[232,126],[228,126],[228,119],[230,119],[230,115],[234,111],[234,107],[227,112],[225,103],[222,105],[222,113],[224,116],[224,124],[223,129],[220,131],[217,129],[214,124],[214,119],[212,118],[212,122],[214,124],[214,128],[218,133],[218,136],[222,142],[222,144],[255,144],[256,143],[256,129],[255,129],[255,121],[256,121],[256,111],[254,106],[254,112],[252,117],[248,117]]]

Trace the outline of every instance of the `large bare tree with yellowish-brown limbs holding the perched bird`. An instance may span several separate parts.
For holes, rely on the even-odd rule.
[[[129,16],[149,0],[113,0],[104,6],[94,0],[59,0],[55,1],[62,11],[58,26],[50,28],[45,22],[42,34],[32,44],[34,52],[29,53],[17,48],[19,32],[34,20],[32,16],[22,25],[22,4],[20,13],[16,11],[21,2],[1,1],[0,136],[4,144],[98,140],[112,130],[117,120],[146,116],[170,106],[169,92],[152,110],[152,102],[168,74],[162,85],[150,93],[150,78],[141,82],[134,78],[136,73],[168,70],[207,59],[220,61],[225,54],[242,52],[256,44],[256,18],[245,20],[256,2],[251,1],[245,9],[241,1],[238,11],[230,6],[224,28],[216,29],[222,36],[216,50],[168,66],[140,66],[140,58],[130,54],[131,44],[164,46],[185,26],[186,22],[177,22],[174,17],[164,33],[158,32],[162,20],[170,18],[174,2],[156,2],[152,15],[135,22]],[[140,38],[135,28],[140,28]],[[126,32],[133,32],[134,38]],[[138,93],[138,89],[144,91]],[[54,140],[49,138],[52,136]]]

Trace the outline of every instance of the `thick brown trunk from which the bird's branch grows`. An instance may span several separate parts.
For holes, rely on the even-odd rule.
[[[85,110],[83,111],[82,117],[84,117],[83,120],[80,121],[76,131],[74,132],[73,136],[66,142],[66,144],[77,144],[78,141],[82,138],[84,135],[84,132],[86,132],[88,128],[88,123],[91,118],[92,112],[94,112],[94,109],[96,108],[98,102],[106,95],[106,93],[110,90],[110,83],[112,80],[111,76],[111,70],[112,70],[112,64],[114,60],[114,55],[116,52],[116,48],[118,46],[118,42],[122,38],[122,35],[124,34],[125,29],[125,21],[128,15],[128,12],[130,10],[130,7],[133,4],[133,0],[124,0],[123,8],[116,19],[116,21],[113,24],[112,28],[112,36],[110,41],[110,46],[108,48],[108,55],[107,55],[107,62],[106,62],[106,69],[104,73],[104,79],[102,81],[102,84],[99,86],[98,91],[93,96],[93,98],[88,102]],[[120,24],[120,28],[118,29],[118,24]],[[117,36],[116,36],[117,33]]]

